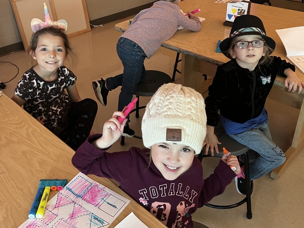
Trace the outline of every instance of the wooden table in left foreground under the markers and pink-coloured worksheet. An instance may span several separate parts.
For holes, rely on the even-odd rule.
[[[0,227],[16,228],[28,219],[40,179],[67,179],[78,170],[71,164],[74,151],[43,127],[9,97],[0,96]],[[123,190],[106,178],[90,178],[130,199],[109,226],[133,212],[150,228],[166,227]],[[50,198],[57,191],[50,192]]]

